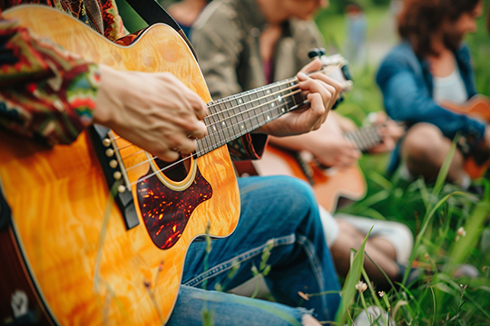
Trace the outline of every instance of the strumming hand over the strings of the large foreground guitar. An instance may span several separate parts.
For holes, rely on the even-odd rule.
[[[163,160],[196,149],[207,134],[204,101],[169,72],[120,72],[101,65],[95,123]]]

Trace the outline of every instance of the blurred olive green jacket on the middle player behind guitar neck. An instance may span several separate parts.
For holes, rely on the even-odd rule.
[[[192,26],[202,73],[213,99],[267,84],[260,59],[259,36],[267,21],[255,0],[214,0]],[[294,76],[308,63],[309,50],[324,46],[314,22],[289,20],[273,55],[277,82]]]

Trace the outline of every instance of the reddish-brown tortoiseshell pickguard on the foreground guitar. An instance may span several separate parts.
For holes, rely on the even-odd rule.
[[[156,176],[142,177],[136,191],[146,230],[160,249],[179,241],[194,209],[212,196],[212,187],[199,167],[191,186],[182,191],[165,187]]]

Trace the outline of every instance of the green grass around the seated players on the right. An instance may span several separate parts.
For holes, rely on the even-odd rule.
[[[368,9],[368,43],[385,49],[380,42],[396,42],[393,26],[389,26],[387,8]],[[388,20],[387,20],[388,18]],[[326,36],[328,48],[341,48],[345,37],[342,15],[326,12],[318,16],[318,24]],[[468,38],[471,46],[478,90],[490,94],[490,37],[480,24],[480,32]],[[385,44],[386,45],[386,44]],[[371,111],[382,110],[381,95],[374,82],[379,53],[369,63],[352,67],[355,89],[338,109],[360,125]],[[343,298],[347,305],[339,313],[338,324],[351,323],[368,305],[378,305],[390,312],[397,324],[407,325],[489,325],[490,324],[490,182],[476,182],[486,187],[480,200],[461,192],[441,180],[426,185],[423,180],[408,183],[397,175],[387,177],[389,157],[368,156],[360,165],[368,182],[368,196],[344,212],[373,218],[388,218],[407,224],[417,235],[412,259],[424,267],[416,283],[397,286],[380,298],[376,289],[357,292],[352,284],[362,272],[353,264],[345,283]],[[459,230],[459,232],[458,232]],[[478,276],[459,277],[460,264],[475,266]],[[354,281],[353,281],[354,280]],[[350,303],[353,302],[352,305]]]

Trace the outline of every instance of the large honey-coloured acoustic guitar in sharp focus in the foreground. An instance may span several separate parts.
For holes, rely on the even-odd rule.
[[[173,163],[100,126],[54,148],[1,130],[0,321],[165,324],[191,242],[230,235],[238,223],[226,144],[305,104],[297,79],[211,101],[191,49],[166,24],[122,46],[47,6],[3,15],[87,60],[171,72],[209,102],[211,114],[196,152]]]

